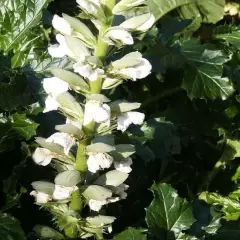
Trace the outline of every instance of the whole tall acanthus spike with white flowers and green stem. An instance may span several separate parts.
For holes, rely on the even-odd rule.
[[[33,160],[42,166],[51,164],[58,174],[54,183],[33,182],[31,195],[36,204],[51,212],[67,237],[103,239],[115,220],[105,216],[103,209],[127,197],[125,181],[135,152],[133,145],[115,143],[114,133],[126,131],[131,124],[141,125],[145,118],[137,111],[140,103],[124,98],[111,102],[103,90],[150,74],[151,64],[140,52],[118,58],[114,53],[132,45],[135,37],[152,27],[155,18],[144,0],[77,3],[81,16],[93,23],[98,34],[78,18],[66,14],[53,17],[59,44],[50,46],[49,54],[68,56],[72,69],[52,68],[53,76],[43,80],[48,94],[44,112],[60,110],[66,124],[56,126],[58,132],[47,139],[36,138],[39,147]],[[118,15],[125,20],[116,26]]]

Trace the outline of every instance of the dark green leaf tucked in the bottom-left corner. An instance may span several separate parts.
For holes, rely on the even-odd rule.
[[[0,214],[0,240],[27,240],[19,221],[9,214]]]

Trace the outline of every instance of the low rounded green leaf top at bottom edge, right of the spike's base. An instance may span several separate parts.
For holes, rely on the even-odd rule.
[[[141,230],[129,227],[116,235],[113,240],[147,240],[147,236]]]

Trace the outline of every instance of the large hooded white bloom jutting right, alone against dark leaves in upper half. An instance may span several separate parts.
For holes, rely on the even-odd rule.
[[[112,62],[112,66],[113,74],[120,75],[133,81],[145,78],[152,70],[150,62],[142,58],[142,54],[139,52],[132,52],[125,55],[120,60]]]

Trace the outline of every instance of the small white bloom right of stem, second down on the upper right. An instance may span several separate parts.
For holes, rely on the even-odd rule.
[[[130,32],[121,27],[111,27],[103,35],[103,40],[110,45],[132,45],[134,43]]]

